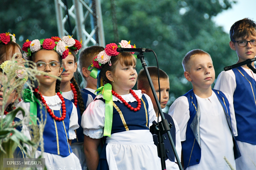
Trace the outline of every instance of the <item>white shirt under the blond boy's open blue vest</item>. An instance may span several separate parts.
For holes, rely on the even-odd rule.
[[[233,100],[226,94],[230,108],[233,107]],[[201,160],[199,164],[189,166],[187,170],[207,169],[207,170],[229,170],[223,157],[225,156],[235,167],[233,152],[232,134],[228,127],[227,119],[223,107],[212,91],[208,98],[200,98],[196,95],[200,106],[200,137],[201,137]],[[231,99],[231,100],[230,100]],[[169,109],[169,114],[177,121],[181,131],[181,141],[186,140],[186,128],[189,116],[189,103],[187,97],[181,96],[174,101]],[[232,126],[235,122],[234,112],[230,110]],[[234,122],[233,122],[234,121]],[[237,132],[236,126],[233,127]]]

